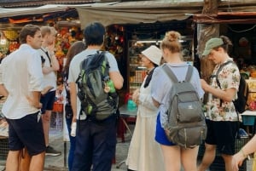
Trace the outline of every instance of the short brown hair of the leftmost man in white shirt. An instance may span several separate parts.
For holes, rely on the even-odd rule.
[[[20,31],[20,35],[19,35],[20,44],[26,43],[27,36],[34,37],[37,31],[40,31],[39,26],[35,26],[35,25],[23,26],[23,28]]]

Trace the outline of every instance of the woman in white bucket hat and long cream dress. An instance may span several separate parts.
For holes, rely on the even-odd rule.
[[[154,140],[157,108],[151,98],[150,83],[154,68],[160,65],[161,57],[160,48],[154,45],[142,52],[142,66],[148,69],[148,75],[144,78],[141,88],[132,95],[132,100],[137,103],[138,110],[136,126],[126,160],[129,170],[165,170],[160,144]]]

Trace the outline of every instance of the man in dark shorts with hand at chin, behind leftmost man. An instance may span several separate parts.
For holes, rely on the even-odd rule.
[[[43,66],[44,82],[43,87],[51,87],[48,93],[41,96],[42,106],[42,120],[44,128],[44,140],[46,145],[45,155],[59,156],[61,151],[56,151],[53,147],[49,146],[49,123],[51,111],[55,102],[55,91],[57,77],[55,71],[60,69],[58,60],[55,57],[54,46],[55,46],[55,35],[56,31],[54,27],[42,26],[41,33],[43,37],[42,47],[38,49],[41,57],[45,60]]]

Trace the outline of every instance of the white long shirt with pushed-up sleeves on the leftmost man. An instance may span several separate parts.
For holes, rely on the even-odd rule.
[[[0,83],[9,96],[3,105],[3,115],[9,119],[19,119],[38,111],[30,105],[26,96],[32,91],[42,91],[43,72],[38,50],[28,44],[3,59],[0,66]]]

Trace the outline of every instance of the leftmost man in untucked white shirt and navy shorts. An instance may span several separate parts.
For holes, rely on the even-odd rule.
[[[40,28],[26,25],[19,38],[20,48],[4,58],[0,66],[0,92],[7,96],[2,111],[9,123],[6,170],[19,169],[19,157],[26,147],[32,157],[29,170],[43,171],[45,142],[39,100],[44,76],[36,50],[42,44]]]

